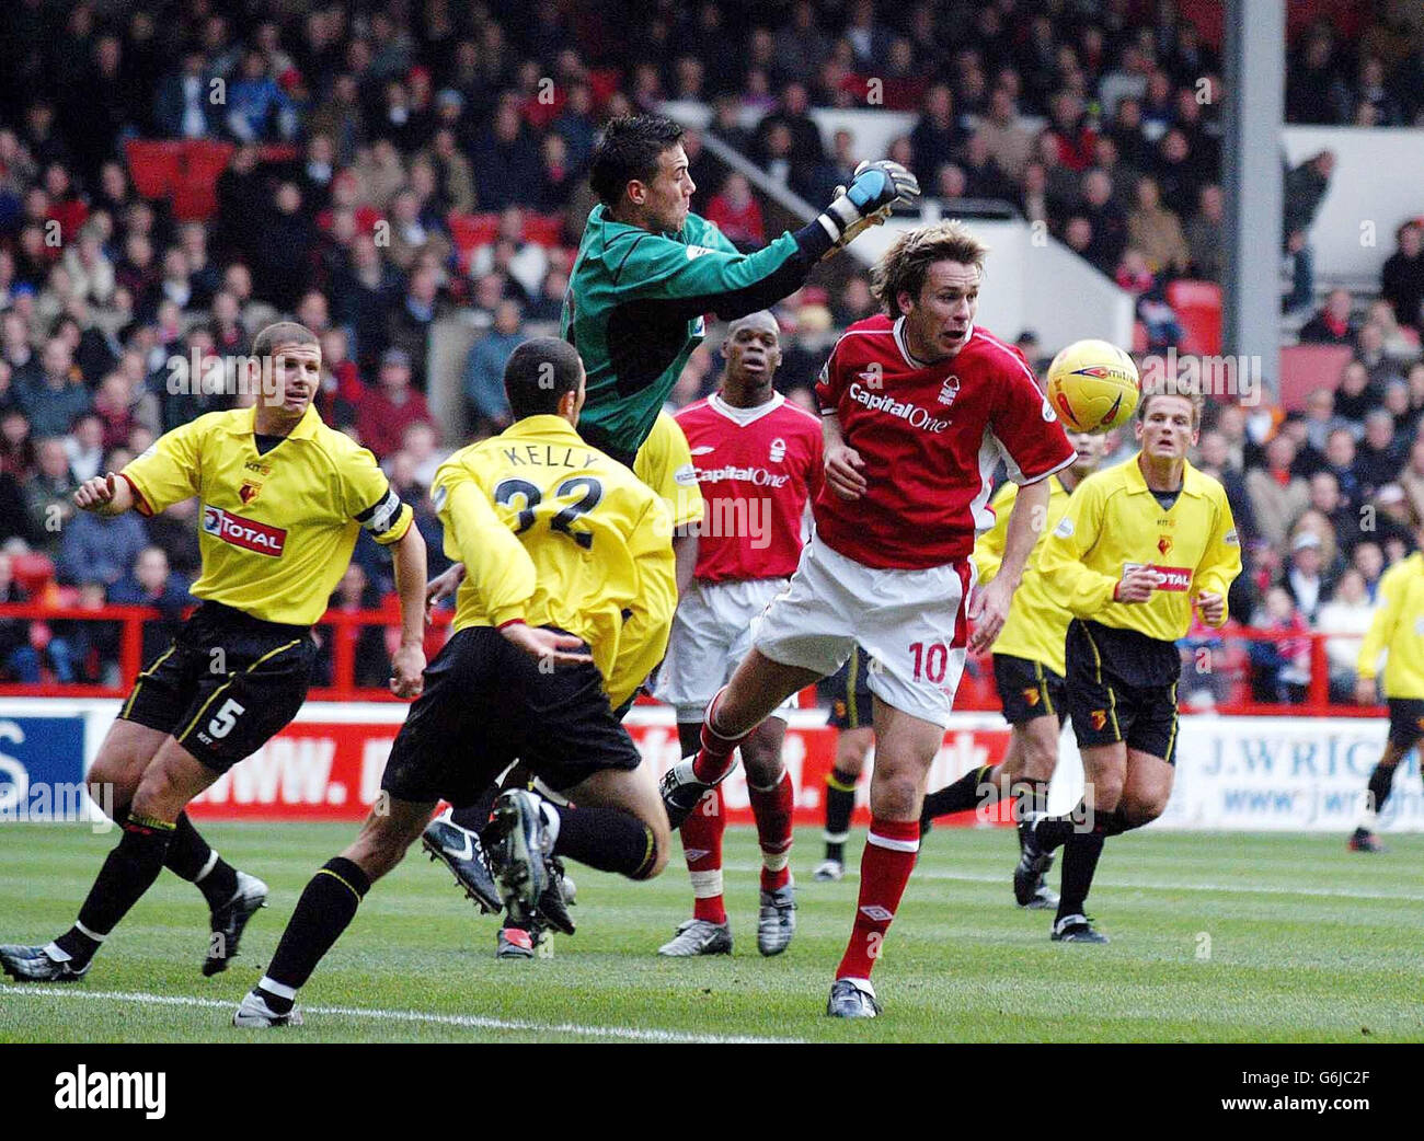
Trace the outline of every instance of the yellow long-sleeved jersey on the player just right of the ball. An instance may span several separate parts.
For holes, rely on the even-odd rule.
[[[1186,464],[1176,502],[1163,508],[1142,477],[1139,455],[1077,487],[1038,548],[1038,572],[1048,596],[1075,617],[1176,642],[1192,625],[1198,593],[1226,598],[1242,569],[1240,541],[1216,479]],[[1132,566],[1156,570],[1161,585],[1146,602],[1114,602]]]

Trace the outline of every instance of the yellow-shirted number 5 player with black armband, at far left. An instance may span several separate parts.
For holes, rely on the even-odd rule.
[[[199,498],[202,605],[134,683],[90,770],[114,788],[122,835],[74,926],[44,948],[0,948],[23,982],[73,982],[164,866],[192,881],[212,909],[202,973],[225,970],[266,885],[218,858],[184,808],[300,709],[316,646],[312,625],[365,526],[390,545],[402,640],[392,690],[420,693],[426,545],[376,458],[328,428],[312,407],[316,336],[282,322],[253,356],[273,378],[252,408],[209,413],[159,437],[117,477],[85,481],[81,511],[142,515]]]

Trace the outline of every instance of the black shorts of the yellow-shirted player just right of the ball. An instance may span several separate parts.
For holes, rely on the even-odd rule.
[[[1079,748],[1126,741],[1128,748],[1176,764],[1176,673],[1169,672],[1169,664],[1178,662],[1176,646],[1161,643],[1171,649],[1168,659],[1124,637],[1131,633],[1081,619],[1068,623],[1064,644],[1074,736]]]

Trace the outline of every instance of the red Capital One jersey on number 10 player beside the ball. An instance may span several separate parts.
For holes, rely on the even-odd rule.
[[[923,364],[903,326],[856,322],[822,370],[822,413],[839,415],[869,487],[847,501],[826,485],[812,511],[816,534],[842,555],[918,570],[967,558],[994,525],[1000,458],[1010,478],[1031,484],[1072,464],[1074,450],[1017,349],[975,327],[953,357]]]

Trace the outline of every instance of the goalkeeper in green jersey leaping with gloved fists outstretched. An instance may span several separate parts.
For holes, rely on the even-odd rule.
[[[682,128],[662,115],[612,120],[588,181],[600,205],[578,246],[561,333],[588,373],[580,435],[629,467],[702,343],[706,313],[733,320],[770,307],[800,289],[822,258],[920,193],[899,164],[863,162],[846,192],[809,225],[756,253],[738,253],[716,226],[691,213],[696,186]]]

